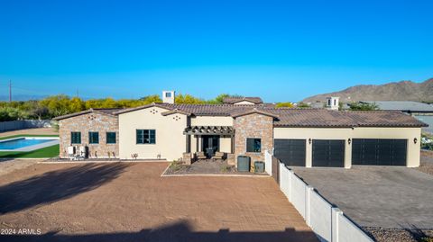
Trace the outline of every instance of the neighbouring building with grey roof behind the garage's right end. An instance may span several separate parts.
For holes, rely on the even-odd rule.
[[[375,103],[380,110],[393,110],[408,113],[428,124],[423,132],[433,133],[433,105],[413,101],[362,101],[360,103]]]

